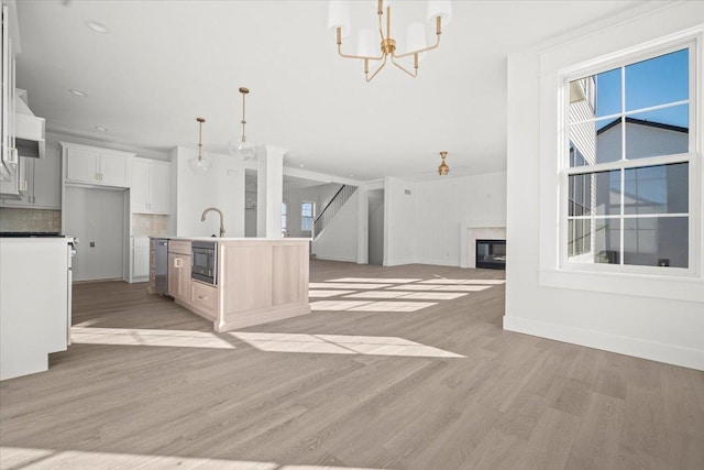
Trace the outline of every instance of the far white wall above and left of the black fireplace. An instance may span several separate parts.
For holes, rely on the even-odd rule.
[[[472,220],[506,220],[506,173],[416,183],[416,262],[461,265],[460,227]]]

